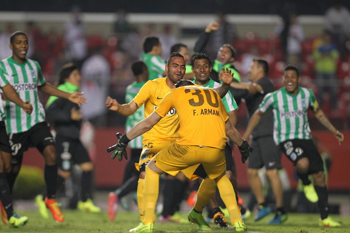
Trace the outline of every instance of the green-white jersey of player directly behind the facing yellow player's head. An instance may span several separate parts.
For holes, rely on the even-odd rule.
[[[141,59],[148,68],[148,80],[163,78],[165,63],[159,56],[143,53]]]

